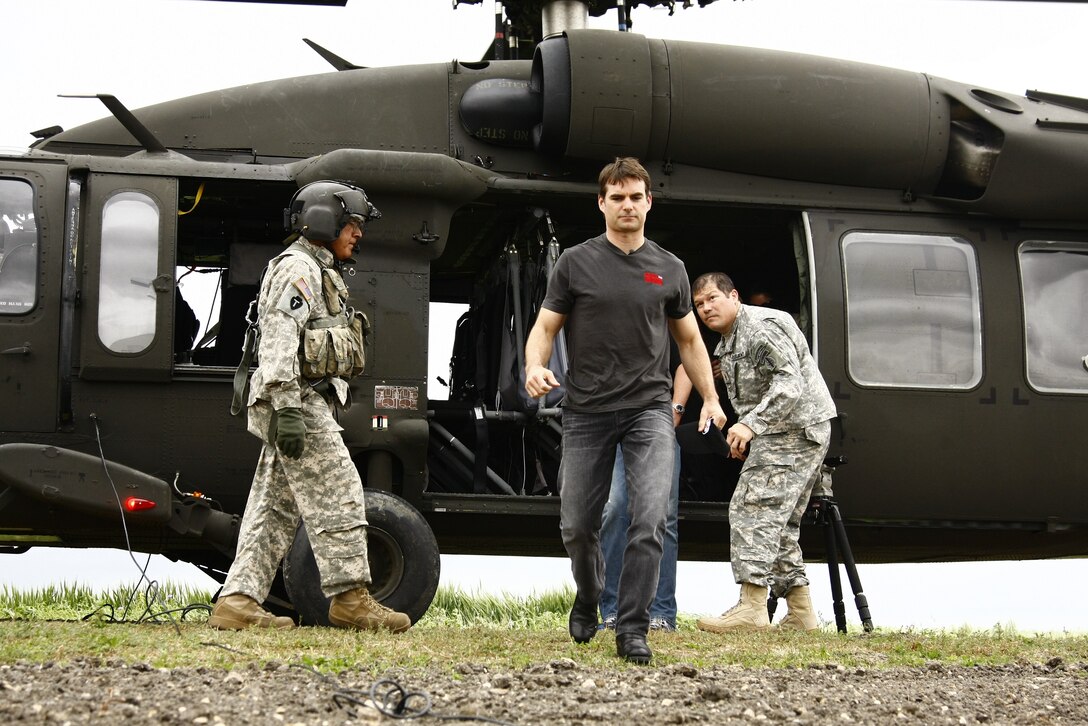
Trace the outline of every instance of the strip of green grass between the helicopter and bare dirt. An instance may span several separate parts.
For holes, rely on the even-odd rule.
[[[632,667],[616,657],[615,638],[603,631],[586,645],[566,632],[573,593],[529,598],[466,593],[443,588],[428,614],[407,633],[349,632],[335,628],[220,632],[205,624],[210,594],[165,585],[158,595],[119,589],[51,587],[16,592],[0,589],[0,664],[67,662],[77,659],[147,663],[154,667],[233,668],[269,663],[311,665],[326,673],[363,668],[448,669],[465,664],[523,668],[570,659],[586,667]],[[153,606],[147,614],[147,600]],[[127,603],[127,611],[125,610]],[[165,608],[176,612],[174,625]],[[126,617],[122,617],[123,615]],[[83,620],[90,614],[90,618]],[[1000,666],[1060,660],[1085,665],[1088,636],[1039,636],[1013,628],[988,630],[778,631],[715,636],[681,616],[677,632],[653,632],[655,665],[695,668],[743,667],[887,668],[893,666]]]

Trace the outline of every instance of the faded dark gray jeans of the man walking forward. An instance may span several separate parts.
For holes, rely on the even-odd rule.
[[[577,598],[597,605],[605,580],[601,517],[611,491],[617,445],[626,464],[631,524],[619,574],[616,633],[645,635],[672,489],[676,434],[668,404],[603,414],[564,411],[559,528]]]

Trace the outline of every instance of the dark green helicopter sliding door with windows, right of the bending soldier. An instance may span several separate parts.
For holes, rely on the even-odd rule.
[[[846,513],[945,528],[1088,517],[1067,496],[1085,456],[1052,435],[1073,426],[1075,410],[1083,421],[1088,376],[1078,397],[1025,371],[1025,328],[1030,335],[1033,321],[1051,318],[1030,306],[1025,318],[1021,267],[1030,268],[1024,294],[1052,286],[1055,259],[1038,241],[1055,235],[966,218],[813,212],[806,221],[819,365],[840,411],[831,452],[849,458],[834,488]],[[1063,266],[1088,275],[1080,245]],[[1076,297],[1088,282],[1058,284]],[[1047,355],[1042,343],[1030,349]],[[1067,381],[1075,368],[1036,378]]]

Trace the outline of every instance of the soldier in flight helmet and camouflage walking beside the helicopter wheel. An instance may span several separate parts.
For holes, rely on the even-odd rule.
[[[411,625],[408,616],[367,590],[362,482],[333,413],[348,403],[345,378],[361,372],[363,360],[364,318],[346,308],[337,268],[350,259],[367,222],[381,213],[362,189],[338,182],[302,187],[288,212],[293,244],[269,262],[260,287],[259,365],[246,402],[249,431],[264,445],[237,554],[208,623],[231,630],[294,626],[259,603],[301,518],[321,589],[332,598],[330,622],[400,632]]]

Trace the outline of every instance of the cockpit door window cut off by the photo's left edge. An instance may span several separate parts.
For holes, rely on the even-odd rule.
[[[0,315],[25,315],[38,296],[38,223],[34,187],[0,179]]]

